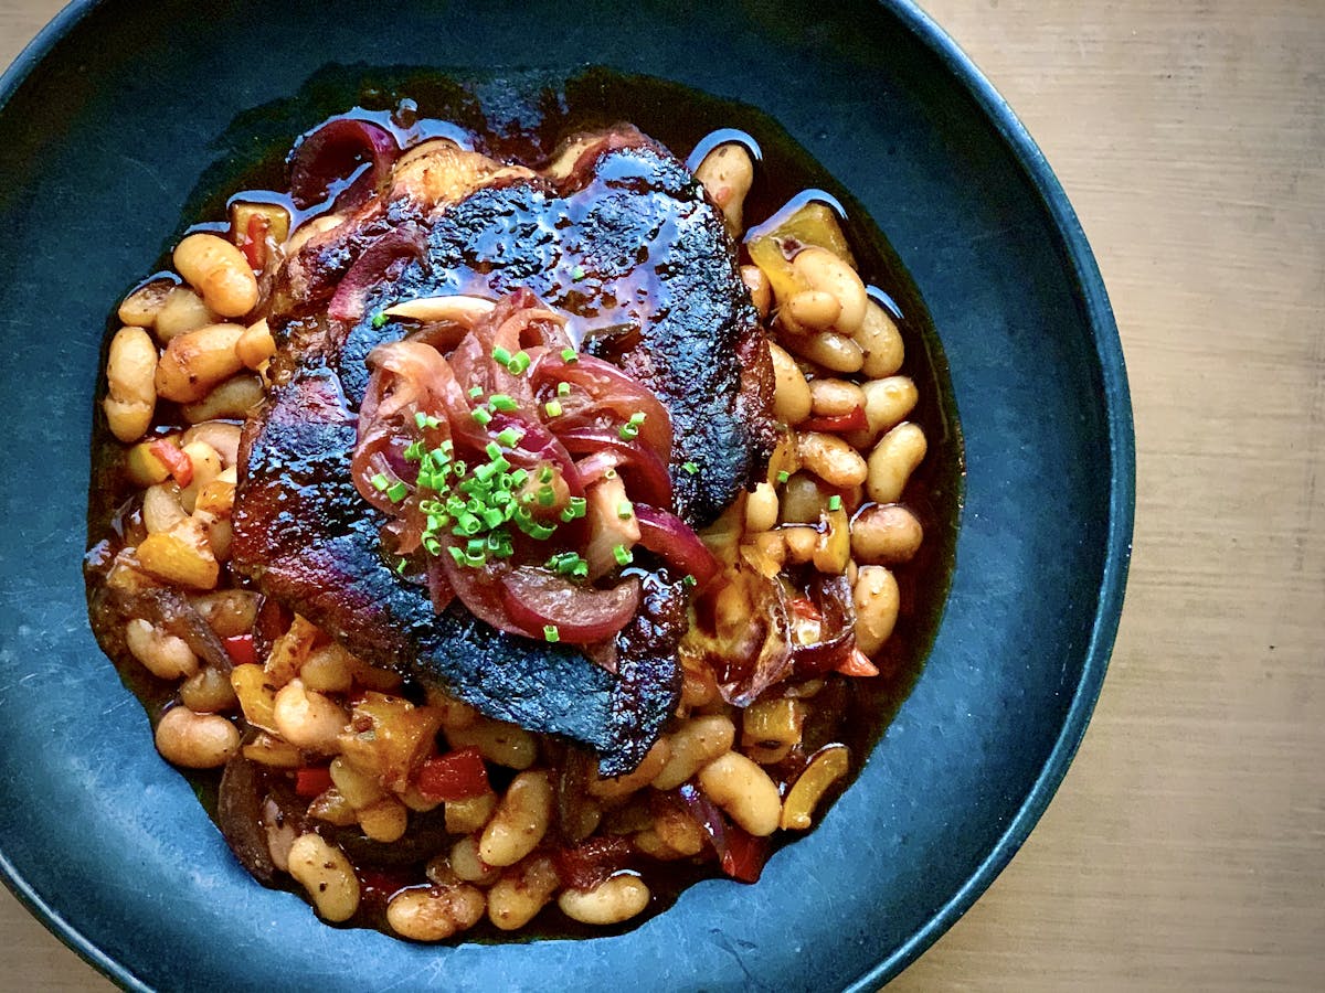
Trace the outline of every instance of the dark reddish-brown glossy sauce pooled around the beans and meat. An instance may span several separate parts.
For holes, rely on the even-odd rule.
[[[677,83],[596,68],[571,78],[547,74],[443,77],[436,70],[424,69],[366,71],[363,68],[329,68],[290,99],[248,111],[233,122],[219,140],[219,147],[228,150],[227,154],[207,171],[183,205],[180,226],[163,241],[155,267],[168,267],[170,248],[188,230],[224,230],[227,208],[232,201],[280,203],[290,209],[294,224],[325,209],[298,211],[288,195],[274,191],[286,188],[285,162],[293,139],[323,122],[323,118],[315,117],[314,109],[327,113],[344,107],[354,110],[335,117],[372,119],[391,128],[401,146],[445,136],[462,147],[497,159],[518,159],[533,168],[546,166],[566,136],[620,122],[635,124],[678,156],[689,156],[692,167],[709,148],[738,140],[759,160],[754,187],[745,201],[749,226],[766,221],[806,191],[814,191],[810,196],[825,199],[840,208],[841,225],[863,279],[871,285],[872,295],[892,311],[901,328],[906,360],[900,375],[913,379],[920,391],[920,402],[909,420],[924,426],[929,442],[928,455],[912,477],[905,500],[924,526],[925,542],[909,564],[896,569],[901,612],[892,638],[874,659],[881,674],[874,679],[836,678],[829,682],[825,692],[836,698],[832,710],[845,714],[845,735],[816,728],[814,722],[807,726],[807,739],[825,735],[824,740],[831,737],[849,745],[849,779],[853,779],[909,694],[938,630],[950,584],[963,485],[961,432],[942,347],[920,291],[880,226],[775,120],[750,106]],[[886,225],[886,218],[882,221]],[[151,263],[152,260],[144,260],[144,270]],[[117,327],[115,323],[107,324],[107,344]],[[99,401],[105,379],[98,380]],[[158,420],[180,422],[182,418],[172,417],[170,406],[164,402],[159,406]],[[123,479],[122,451],[98,413],[91,440],[89,495],[90,600],[101,575],[94,567],[121,544],[117,531],[122,528],[122,522],[117,514],[132,493]],[[121,678],[143,700],[155,723],[172,696],[174,685],[155,679],[129,657],[122,638],[105,617],[94,612],[91,621]],[[180,772],[215,818],[219,771]],[[816,820],[823,817],[840,792],[839,788],[825,797],[816,810]],[[799,837],[790,831],[780,831],[779,835],[775,847],[795,843]],[[652,904],[621,925],[588,928],[549,908],[522,931],[501,932],[484,920],[458,940],[523,941],[620,933],[672,906],[677,895],[698,879],[719,876],[712,861],[702,865],[644,862],[640,871],[653,894]],[[293,884],[288,888],[298,891]],[[371,892],[366,894],[364,904],[348,925],[387,929],[380,894],[378,899]]]

